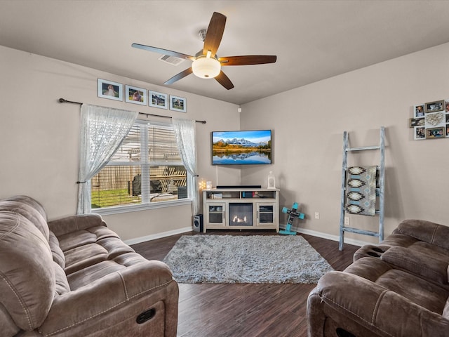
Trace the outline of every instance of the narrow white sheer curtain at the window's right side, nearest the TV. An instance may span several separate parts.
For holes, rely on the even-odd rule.
[[[180,151],[182,162],[187,172],[190,174],[189,184],[192,187],[192,212],[193,215],[199,211],[199,195],[196,177],[198,176],[196,167],[196,134],[195,121],[184,118],[172,118],[173,129],[175,130],[177,148]]]

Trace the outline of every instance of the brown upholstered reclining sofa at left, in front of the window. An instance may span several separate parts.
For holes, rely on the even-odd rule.
[[[176,336],[168,267],[98,215],[50,223],[36,200],[0,201],[1,336]]]

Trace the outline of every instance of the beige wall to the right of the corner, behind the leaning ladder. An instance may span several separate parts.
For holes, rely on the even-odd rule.
[[[274,171],[281,207],[296,201],[306,214],[295,224],[338,235],[343,132],[349,131],[352,147],[378,145],[378,130],[385,126],[384,233],[406,218],[448,224],[449,138],[413,140],[413,128],[408,128],[413,105],[449,98],[448,55],[449,44],[444,44],[243,105],[242,129],[274,131],[274,165],[242,167],[242,183],[264,185],[268,171]],[[349,158],[350,165],[379,162],[373,152]],[[350,221],[367,230],[378,226],[377,216],[351,215]]]

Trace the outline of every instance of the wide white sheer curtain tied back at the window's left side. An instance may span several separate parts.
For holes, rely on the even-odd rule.
[[[76,213],[91,212],[91,178],[107,164],[128,134],[138,112],[81,105],[81,137]]]

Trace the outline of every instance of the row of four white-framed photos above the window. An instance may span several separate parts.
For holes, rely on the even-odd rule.
[[[126,103],[187,112],[186,98],[170,95],[170,99],[168,99],[169,95],[167,93],[159,93],[145,88],[138,88],[137,86],[128,86],[128,84],[125,85],[123,94],[123,84],[107,79],[98,79],[98,97],[123,102],[123,96]]]

